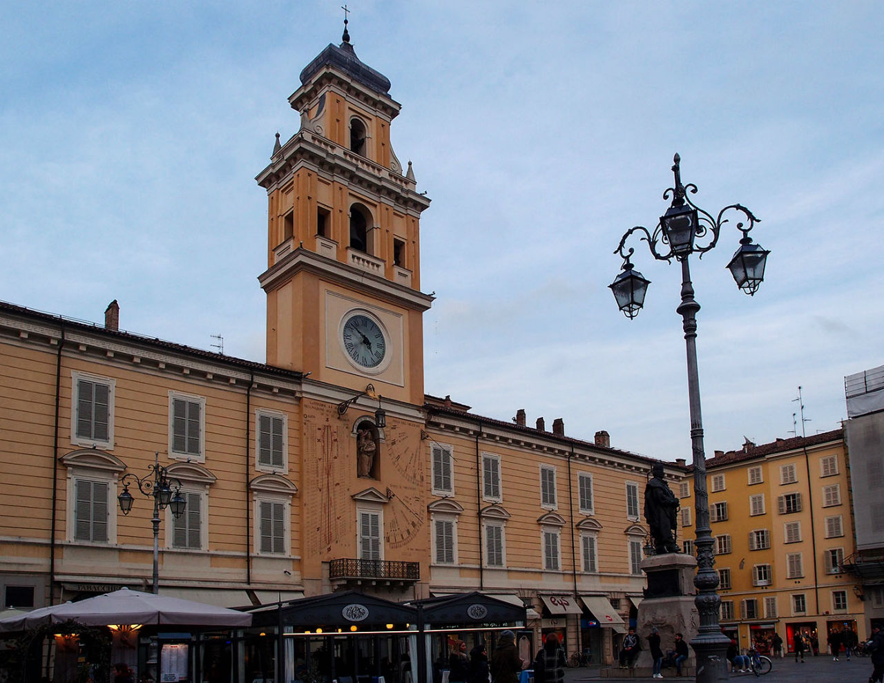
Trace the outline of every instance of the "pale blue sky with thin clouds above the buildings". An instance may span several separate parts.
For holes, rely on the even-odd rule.
[[[884,11],[878,2],[351,0],[402,104],[423,213],[425,391],[476,414],[690,461],[681,272],[628,320],[607,288],[667,209],[741,203],[691,275],[705,450],[837,429],[884,362]],[[265,191],[287,98],[339,43],[338,0],[0,4],[0,300],[263,361]],[[804,397],[801,423],[798,387]]]

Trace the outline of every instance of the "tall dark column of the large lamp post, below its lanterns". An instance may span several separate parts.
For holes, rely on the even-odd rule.
[[[703,415],[700,410],[700,379],[697,372],[697,311],[690,282],[688,256],[682,262],[682,303],[676,311],[682,315],[684,343],[688,355],[688,399],[690,404],[690,450],[694,465],[694,507],[696,520],[697,575],[694,603],[700,616],[699,633],[690,641],[697,655],[697,683],[717,683],[728,679],[726,653],[730,641],[721,633],[719,607],[721,599],[715,588],[719,575],[713,569],[712,528],[709,526],[709,494],[706,489],[706,459],[703,445]]]

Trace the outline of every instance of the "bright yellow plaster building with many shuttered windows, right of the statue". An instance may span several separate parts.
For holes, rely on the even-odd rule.
[[[741,451],[715,452],[706,470],[720,621],[740,646],[775,631],[792,651],[800,631],[816,638],[825,654],[833,629],[848,626],[865,638],[863,603],[842,567],[855,551],[843,430],[772,444],[747,441]],[[679,493],[690,550],[689,477]]]

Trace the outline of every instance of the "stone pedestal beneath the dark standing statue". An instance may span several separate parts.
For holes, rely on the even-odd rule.
[[[644,590],[644,600],[638,605],[636,633],[642,641],[642,651],[636,660],[636,675],[650,677],[653,660],[648,649],[647,637],[652,626],[657,626],[660,636],[660,649],[666,656],[668,650],[675,649],[675,634],[682,634],[690,643],[697,636],[700,626],[699,613],[694,604],[697,589],[694,588],[694,575],[697,573],[697,559],[682,552],[665,555],[652,555],[642,560],[642,571],[647,574],[648,588]],[[688,659],[682,664],[694,667],[697,658],[688,647]]]

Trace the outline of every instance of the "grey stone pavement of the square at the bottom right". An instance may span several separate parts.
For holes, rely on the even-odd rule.
[[[636,678],[616,678],[603,679],[599,675],[599,666],[589,666],[585,668],[575,668],[565,670],[565,683],[580,683],[580,681],[618,681],[626,683],[626,681],[641,681],[641,683],[652,683],[655,679],[650,676]],[[674,681],[689,681],[692,678],[675,678],[674,672],[664,670],[665,679]],[[773,660],[773,670],[766,676],[759,676],[758,679],[751,673],[734,673],[730,679],[739,681],[739,683],[866,683],[872,673],[872,660],[867,656],[853,657],[850,662],[841,657],[840,661],[833,662],[831,656],[809,656],[804,659],[804,664],[799,661],[795,663],[792,657],[784,657],[782,659]]]

